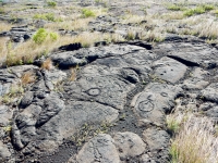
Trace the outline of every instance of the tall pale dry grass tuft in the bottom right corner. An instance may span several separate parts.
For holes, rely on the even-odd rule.
[[[209,118],[189,116],[172,140],[171,162],[217,163],[218,138],[214,133],[214,123]]]

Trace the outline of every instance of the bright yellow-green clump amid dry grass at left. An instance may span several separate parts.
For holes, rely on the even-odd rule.
[[[49,33],[45,28],[39,28],[37,33],[33,36],[34,42],[41,45],[46,39],[55,41],[58,39],[57,33]]]

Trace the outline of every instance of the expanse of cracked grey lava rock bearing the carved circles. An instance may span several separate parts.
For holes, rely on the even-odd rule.
[[[192,41],[181,40],[182,45],[195,50]],[[218,117],[216,71],[171,57],[168,47],[173,42],[81,48],[51,54],[59,65],[51,70],[32,65],[1,70],[2,96],[10,97],[23,74],[36,76],[15,103],[0,106],[1,159],[168,162],[167,114],[179,109]],[[76,65],[71,80],[70,68]]]

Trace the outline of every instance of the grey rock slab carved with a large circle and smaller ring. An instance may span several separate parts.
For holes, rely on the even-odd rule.
[[[135,113],[141,123],[152,123],[164,126],[166,112],[174,106],[174,98],[182,91],[178,86],[165,84],[149,84],[143,92],[136,95],[132,100]]]

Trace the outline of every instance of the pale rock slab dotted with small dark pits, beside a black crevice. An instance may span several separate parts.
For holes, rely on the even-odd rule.
[[[172,84],[180,80],[187,70],[186,65],[167,57],[156,61],[153,66],[156,67],[155,75],[157,77]]]

